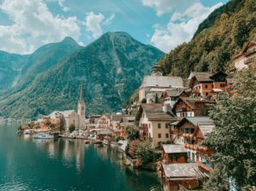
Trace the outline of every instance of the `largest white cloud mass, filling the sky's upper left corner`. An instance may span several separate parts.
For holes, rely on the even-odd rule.
[[[0,49],[5,51],[27,54],[67,36],[79,40],[77,18],[54,16],[42,0],[4,0],[0,9],[14,22],[0,26]]]

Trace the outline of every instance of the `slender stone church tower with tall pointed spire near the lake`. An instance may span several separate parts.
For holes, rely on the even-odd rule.
[[[79,114],[79,128],[85,127],[84,81],[82,81],[81,88],[80,88],[78,114]]]

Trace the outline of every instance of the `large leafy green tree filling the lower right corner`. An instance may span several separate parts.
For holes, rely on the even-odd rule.
[[[213,148],[216,171],[207,186],[222,190],[228,177],[237,188],[256,186],[256,100],[250,97],[220,96],[211,113],[216,129],[202,142]],[[207,187],[206,186],[206,187]]]

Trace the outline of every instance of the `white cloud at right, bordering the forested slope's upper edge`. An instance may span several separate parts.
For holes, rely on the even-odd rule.
[[[160,2],[164,2],[164,0]],[[181,0],[181,2],[183,2],[183,0]],[[223,3],[217,3],[211,8],[208,8],[199,1],[194,1],[193,4],[190,4],[186,8],[181,5],[178,6],[179,8],[183,7],[183,9],[177,9],[173,12],[171,14],[171,19],[166,26],[154,26],[154,35],[151,38],[151,43],[153,43],[157,48],[165,52],[169,52],[178,44],[189,42],[198,25],[205,20],[214,9],[220,7],[222,4]],[[158,11],[160,11],[160,8]],[[161,9],[161,11],[162,12],[160,13],[163,13],[163,9]]]

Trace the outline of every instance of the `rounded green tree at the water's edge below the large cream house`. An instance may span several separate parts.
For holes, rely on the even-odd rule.
[[[152,162],[154,159],[154,148],[152,148],[151,142],[139,142],[137,145],[136,154],[138,158],[142,160],[143,164]]]

